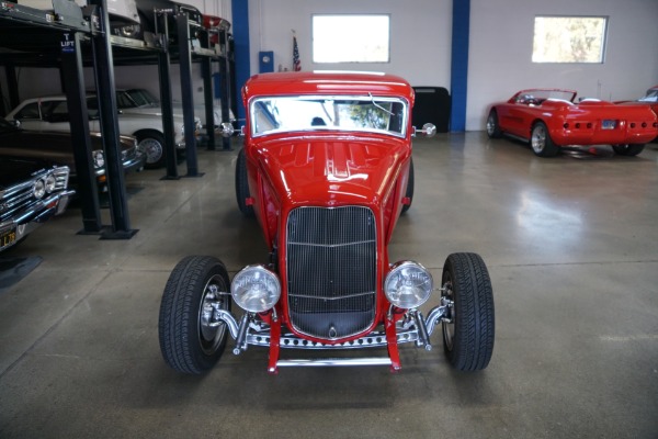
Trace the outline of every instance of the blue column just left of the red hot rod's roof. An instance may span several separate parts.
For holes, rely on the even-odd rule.
[[[236,59],[236,86],[238,95],[238,125],[242,125],[246,113],[242,105],[242,95],[240,90],[249,77],[251,76],[250,55],[249,55],[249,1],[232,0],[232,29],[235,41],[235,59]]]

